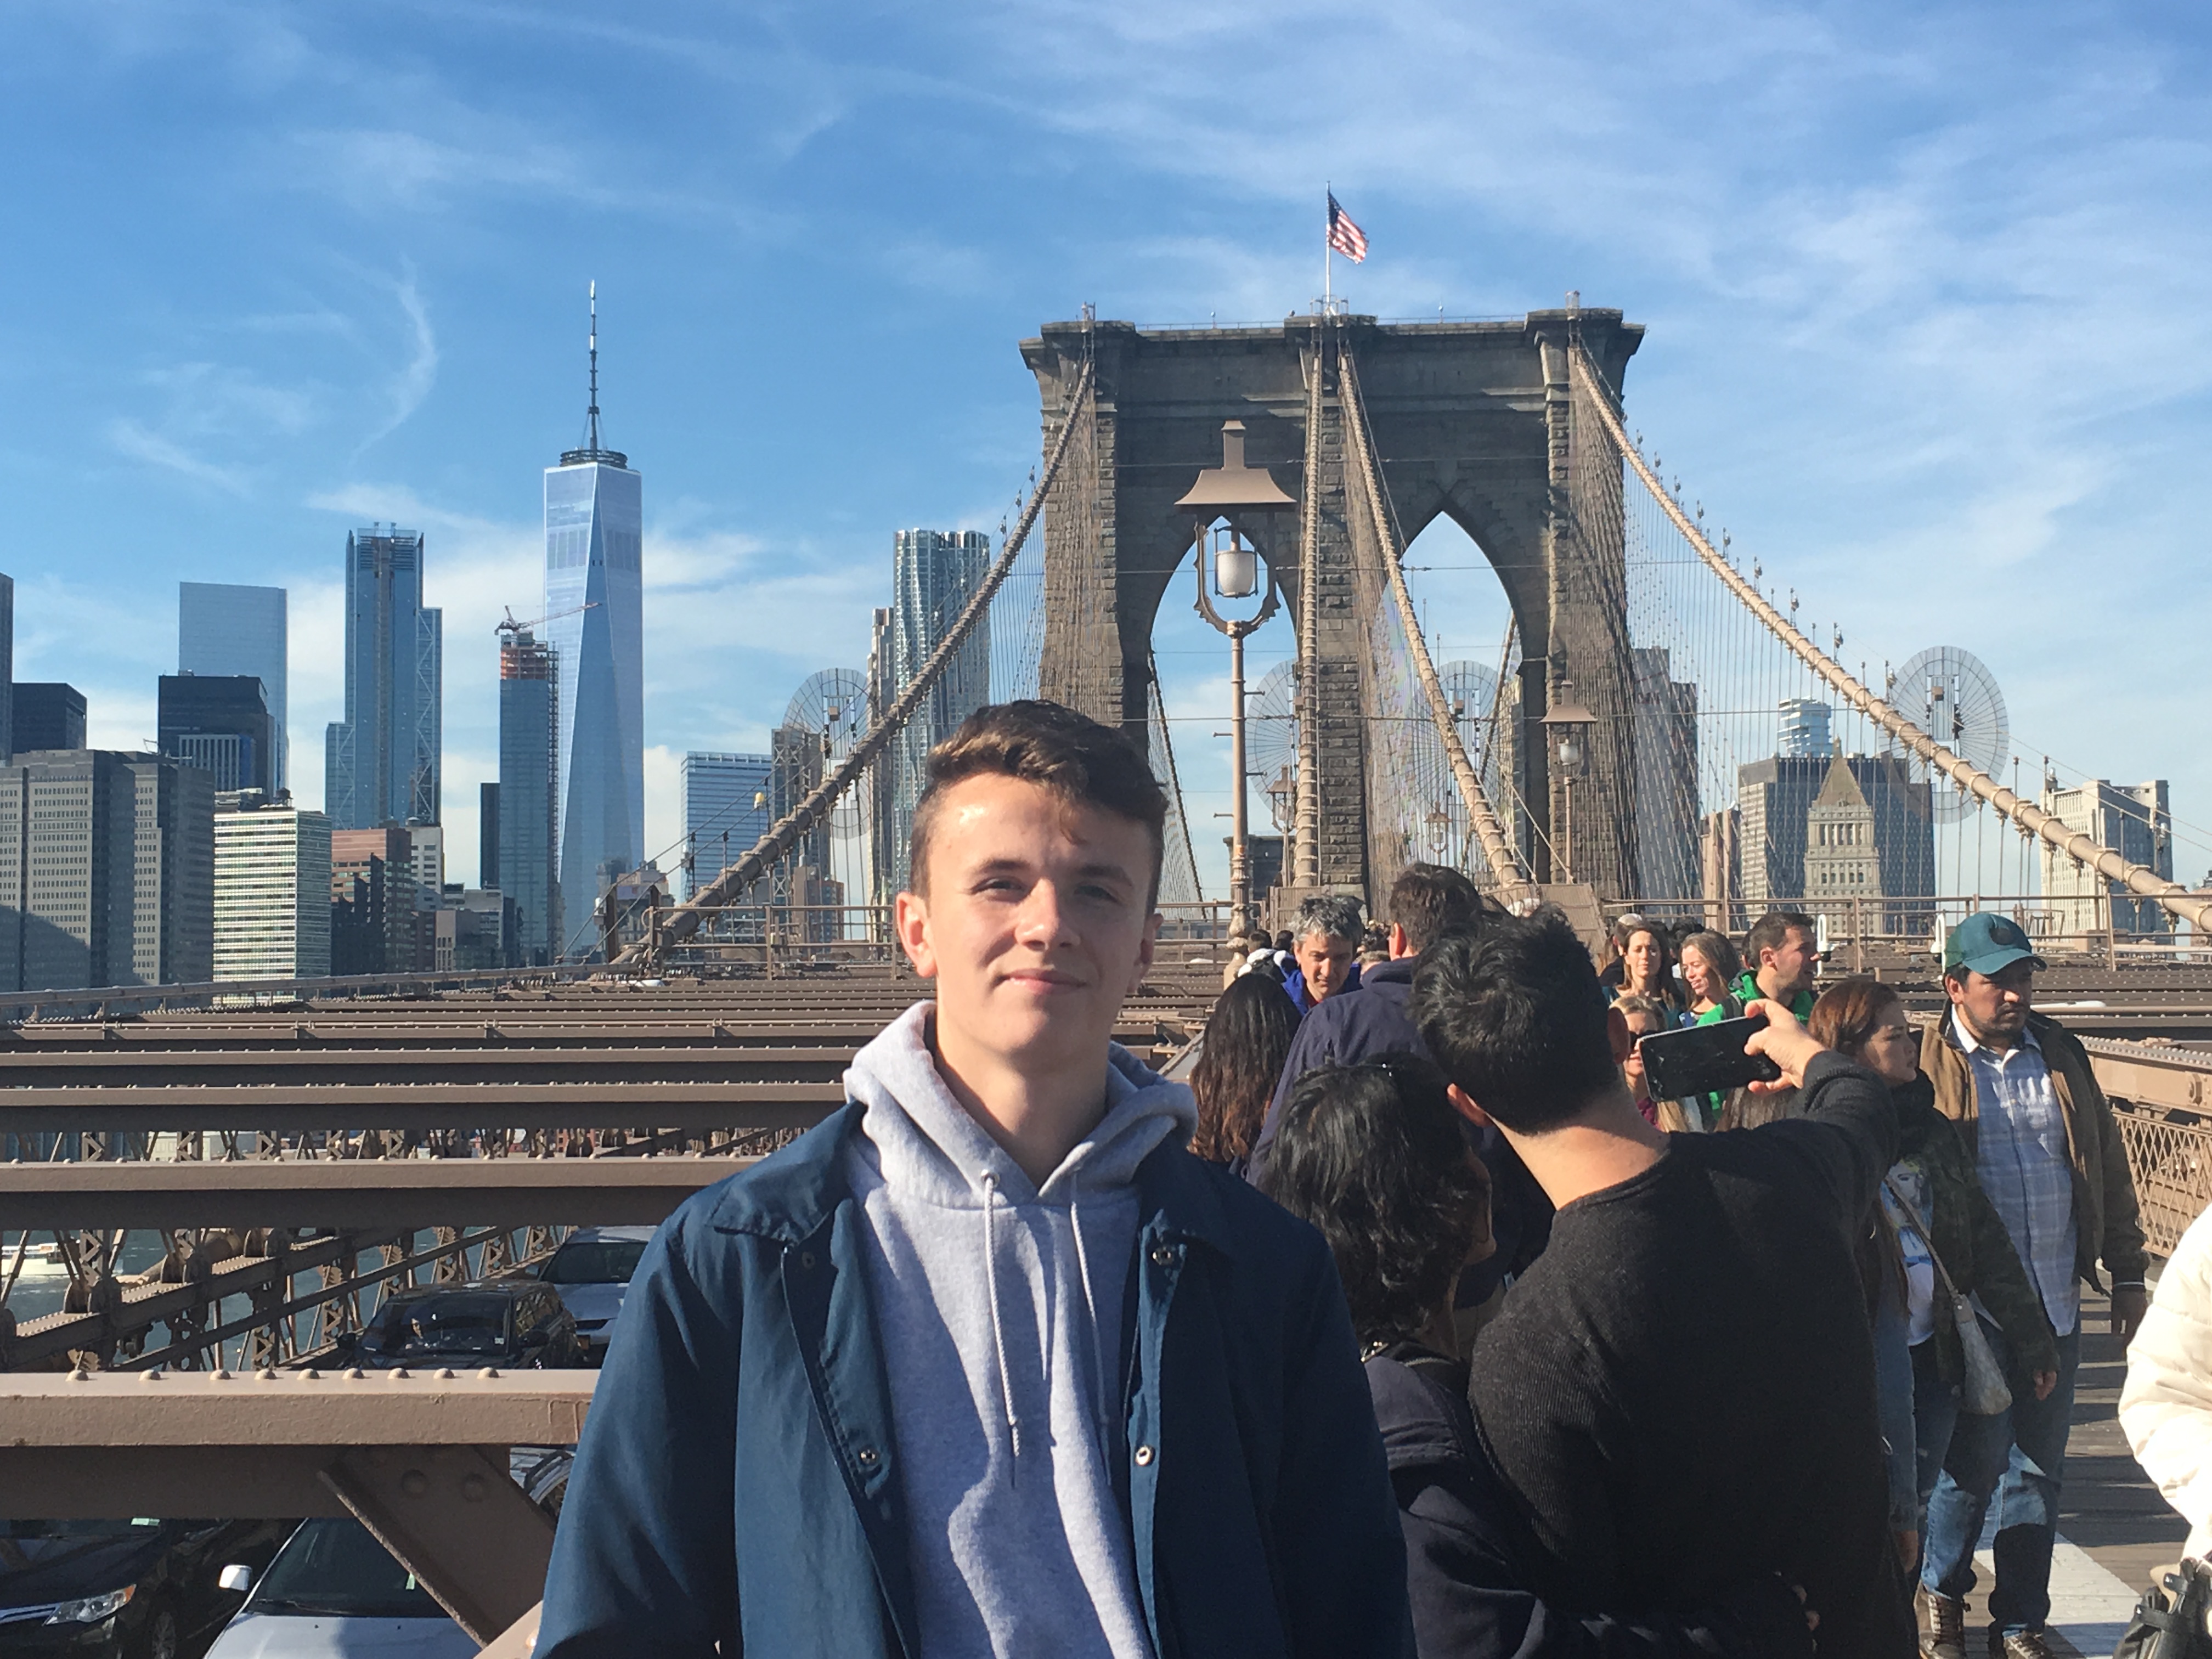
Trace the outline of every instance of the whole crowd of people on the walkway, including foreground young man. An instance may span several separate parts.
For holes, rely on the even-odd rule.
[[[1991,1511],[1989,1652],[2042,1659],[2081,1285],[2148,1298],[2015,922],[1916,1026],[1796,911],[1593,960],[1411,865],[1232,940],[1186,1088],[1110,1040],[1164,818],[1053,703],[931,752],[936,998],[659,1230],[542,1659],[1964,1659]],[[1652,1099],[1646,1042],[1745,1013],[1774,1082]],[[2139,1409],[2199,1509],[2208,1261]]]

